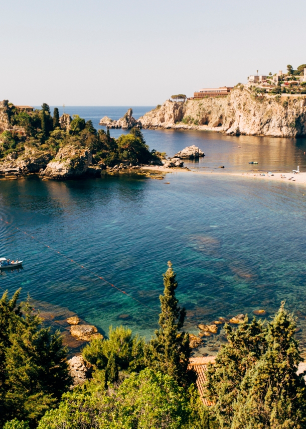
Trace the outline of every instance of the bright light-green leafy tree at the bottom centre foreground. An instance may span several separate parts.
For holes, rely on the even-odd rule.
[[[198,410],[202,409],[195,389],[185,389],[168,374],[145,369],[105,392],[66,393],[38,429],[187,429],[198,427]]]

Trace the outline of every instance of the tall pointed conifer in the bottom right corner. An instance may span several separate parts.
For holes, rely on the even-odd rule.
[[[301,361],[295,320],[284,302],[268,324],[267,349],[241,382],[232,429],[306,426],[306,385],[296,375]]]

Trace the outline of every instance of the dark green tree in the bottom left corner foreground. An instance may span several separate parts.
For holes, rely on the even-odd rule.
[[[17,418],[34,426],[71,379],[60,333],[41,326],[29,298],[17,305],[19,294],[0,299],[0,425]]]

